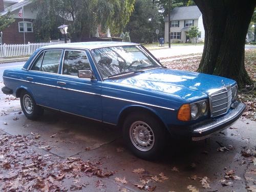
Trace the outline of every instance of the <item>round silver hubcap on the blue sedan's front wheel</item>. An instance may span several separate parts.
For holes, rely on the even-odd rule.
[[[150,125],[143,121],[135,121],[130,126],[130,139],[138,150],[146,152],[155,144],[155,136]]]

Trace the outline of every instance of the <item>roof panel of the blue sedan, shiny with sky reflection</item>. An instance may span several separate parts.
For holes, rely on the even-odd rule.
[[[133,42],[116,42],[116,41],[91,41],[91,42],[72,42],[69,44],[58,44],[50,45],[42,48],[79,48],[79,49],[96,49],[103,47],[112,47],[112,46],[131,46],[139,45]]]

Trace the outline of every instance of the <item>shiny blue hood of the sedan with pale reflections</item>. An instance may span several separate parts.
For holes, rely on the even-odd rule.
[[[236,81],[203,73],[157,68],[144,73],[123,75],[105,81],[135,86],[140,90],[161,92],[186,100],[197,100],[207,97],[213,89],[232,86]]]

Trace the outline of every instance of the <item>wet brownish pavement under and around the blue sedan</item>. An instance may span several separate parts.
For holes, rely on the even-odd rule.
[[[3,83],[0,86],[3,87]],[[241,151],[256,150],[255,121],[240,119],[230,126],[232,129],[205,141],[170,141],[162,157],[145,161],[125,148],[117,127],[54,111],[45,111],[44,116],[32,121],[20,113],[19,100],[3,93],[0,98],[0,132],[39,134],[38,142],[50,146],[50,150],[33,146],[39,153],[63,159],[80,157],[84,161],[102,161],[105,168],[115,172],[106,178],[81,177],[79,181],[87,183],[82,191],[141,191],[135,186],[142,185],[141,181],[150,181],[148,185],[156,186],[154,191],[189,191],[190,185],[200,191],[249,191],[256,187],[255,160],[241,154]],[[144,169],[143,173],[133,173],[139,168]],[[225,172],[230,170],[238,177],[225,178]],[[168,179],[161,179],[161,173]],[[117,182],[117,177],[125,178],[127,183]],[[203,188],[204,177],[210,188]],[[221,180],[231,183],[223,186]],[[68,189],[73,182],[70,179],[62,181]]]

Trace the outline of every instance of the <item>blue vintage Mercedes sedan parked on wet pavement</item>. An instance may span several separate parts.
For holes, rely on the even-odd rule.
[[[28,119],[54,109],[117,125],[131,151],[152,159],[169,136],[202,140],[236,121],[237,82],[166,69],[144,47],[79,42],[42,47],[22,69],[5,70],[5,94]]]

